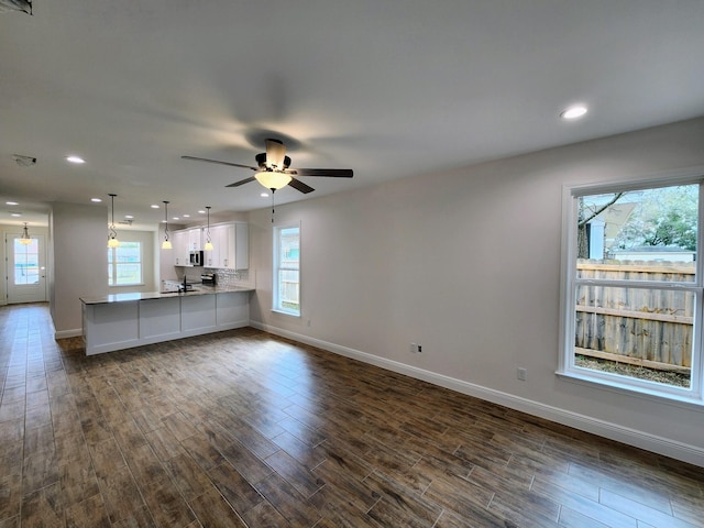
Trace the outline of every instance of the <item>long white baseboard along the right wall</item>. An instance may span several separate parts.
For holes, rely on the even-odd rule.
[[[437,374],[416,366],[406,365],[397,361],[387,360],[355,349],[310,338],[308,336],[289,332],[280,328],[262,324],[256,321],[250,321],[250,326],[275,336],[293,339],[294,341],[299,341],[301,343],[327,350],[345,358],[351,358],[363,363],[380,366],[392,372],[405,374],[409,377],[421,380],[458,393],[503,405],[504,407],[508,407],[514,410],[538,416],[546,420],[562,424],[600,437],[616,440],[628,446],[634,446],[647,451],[652,451],[653,453],[663,454],[666,457],[704,468],[704,450],[696,446],[690,446],[668,438],[650,435],[645,431],[623,427],[618,424],[600,420],[590,416],[561,409],[559,407],[544,405],[539,402],[521,398],[508,393],[483,387],[481,385],[457,380],[443,374]]]

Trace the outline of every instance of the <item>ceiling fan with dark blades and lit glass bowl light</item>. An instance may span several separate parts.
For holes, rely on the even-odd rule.
[[[242,167],[254,170],[254,176],[241,179],[227,187],[239,187],[249,184],[255,179],[267,189],[274,193],[287,185],[294,189],[308,194],[316,189],[294,176],[318,176],[328,178],[351,178],[353,172],[351,168],[288,168],[290,166],[290,157],[286,155],[286,145],[279,140],[266,140],[266,152],[257,154],[255,160],[257,167],[251,165],[241,165],[239,163],[220,162],[218,160],[208,160],[205,157],[180,156],[183,160],[193,160],[195,162],[217,163],[218,165],[228,165],[231,167]]]

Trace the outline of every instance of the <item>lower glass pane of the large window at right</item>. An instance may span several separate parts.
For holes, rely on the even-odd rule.
[[[694,292],[576,286],[579,367],[690,386]]]

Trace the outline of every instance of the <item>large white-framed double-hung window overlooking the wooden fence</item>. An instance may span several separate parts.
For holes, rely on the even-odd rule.
[[[701,194],[566,189],[562,374],[702,403]]]

